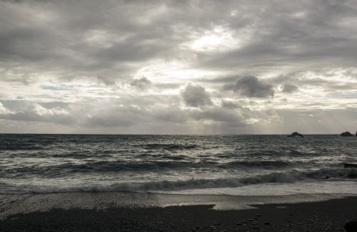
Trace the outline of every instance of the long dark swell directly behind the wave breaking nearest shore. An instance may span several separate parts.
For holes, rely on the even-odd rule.
[[[299,162],[298,164],[301,164]],[[29,165],[29,166],[12,166],[7,167],[0,171],[0,174],[5,176],[9,175],[36,175],[36,176],[65,176],[74,173],[109,173],[109,172],[158,172],[159,170],[184,170],[184,169],[278,169],[281,167],[293,167],[296,165],[292,162],[279,161],[279,160],[266,160],[266,161],[234,161],[234,162],[213,162],[211,160],[191,162],[189,157],[181,155],[166,155],[161,157],[161,160],[146,160],[141,162],[124,161],[124,160],[101,160],[101,161],[88,161],[66,164],[51,164],[51,165]]]

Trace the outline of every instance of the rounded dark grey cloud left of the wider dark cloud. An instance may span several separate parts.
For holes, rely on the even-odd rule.
[[[212,105],[210,95],[201,85],[187,83],[185,88],[181,91],[181,96],[187,106],[200,107]]]

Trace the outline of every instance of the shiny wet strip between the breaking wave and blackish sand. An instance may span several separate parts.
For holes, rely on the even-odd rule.
[[[0,219],[19,213],[52,209],[165,208],[168,206],[212,205],[215,210],[254,209],[266,204],[297,204],[343,199],[352,194],[288,194],[278,196],[233,196],[164,194],[129,191],[0,194]]]

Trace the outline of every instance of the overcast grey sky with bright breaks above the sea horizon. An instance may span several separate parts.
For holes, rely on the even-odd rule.
[[[356,132],[356,25],[356,0],[0,0],[0,132]]]

